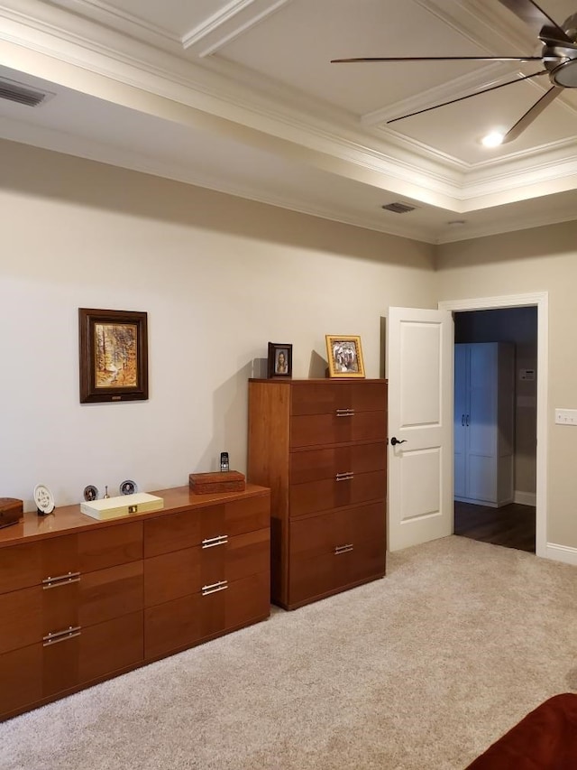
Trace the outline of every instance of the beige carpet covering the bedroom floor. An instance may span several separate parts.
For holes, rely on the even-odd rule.
[[[577,689],[577,568],[450,537],[0,724],[2,770],[461,770]]]

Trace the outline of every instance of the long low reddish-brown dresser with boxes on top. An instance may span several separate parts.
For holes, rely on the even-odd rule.
[[[0,719],[269,616],[269,490],[154,494],[150,514],[0,529]]]

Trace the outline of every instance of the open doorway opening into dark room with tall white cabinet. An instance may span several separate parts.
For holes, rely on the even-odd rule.
[[[481,458],[485,463],[482,467],[477,464],[479,459],[470,460],[472,476],[484,475],[484,481],[489,482],[485,484],[488,494],[478,494],[480,485],[472,484],[472,487],[477,487],[477,494],[472,495],[475,499],[467,499],[466,495],[463,499],[463,483],[456,483],[454,533],[485,543],[535,553],[536,306],[455,312],[453,322],[455,364],[458,350],[464,355],[465,350],[489,348],[489,352],[500,348],[501,356],[505,355],[510,359],[503,362],[508,366],[508,377],[505,382],[500,383],[500,394],[498,382],[499,379],[502,380],[502,376],[498,377],[497,372],[492,373],[495,376],[495,392],[485,394],[499,400],[499,410],[495,409],[492,416],[477,414],[478,421],[494,420],[495,441],[490,441],[490,446],[497,447],[499,441],[501,456],[494,460]],[[482,356],[481,353],[476,355]],[[455,372],[461,371],[461,367],[455,366]],[[481,379],[485,376],[486,371],[481,374]],[[487,384],[490,383],[491,380],[488,380]],[[458,401],[455,395],[455,404]],[[498,401],[495,400],[494,404],[496,407]],[[506,413],[503,413],[504,411]],[[461,433],[469,434],[474,430],[474,427],[467,429],[455,422],[455,448],[463,445],[463,440],[459,440]],[[486,425],[479,425],[477,431],[483,431],[486,437],[491,438],[493,435],[493,431]],[[510,435],[507,435],[508,432]],[[463,452],[460,452],[460,461],[457,463],[455,454],[455,478],[459,478],[461,482],[463,478],[460,477],[464,476],[463,459]],[[498,486],[502,487],[500,499],[491,499],[493,490],[497,495]]]

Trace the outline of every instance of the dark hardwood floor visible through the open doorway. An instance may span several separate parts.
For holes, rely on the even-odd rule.
[[[517,503],[491,508],[455,500],[454,533],[535,553],[535,508]]]

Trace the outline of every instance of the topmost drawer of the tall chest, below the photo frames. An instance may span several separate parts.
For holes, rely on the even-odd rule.
[[[387,386],[382,382],[296,381],[292,387],[290,413],[335,413],[354,409],[358,412],[387,410]]]

